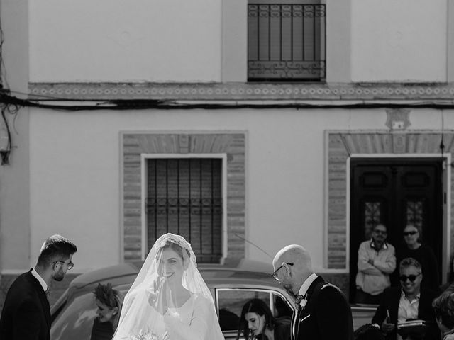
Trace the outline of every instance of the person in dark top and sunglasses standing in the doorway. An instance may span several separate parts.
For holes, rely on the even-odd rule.
[[[421,287],[429,288],[438,292],[440,280],[438,276],[438,264],[433,250],[427,244],[422,244],[418,228],[407,225],[404,228],[404,244],[396,251],[397,263],[411,257],[421,263],[423,280]],[[396,275],[397,276],[397,275]],[[394,278],[394,283],[397,280]]]

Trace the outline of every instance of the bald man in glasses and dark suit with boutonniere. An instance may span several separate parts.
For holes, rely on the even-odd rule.
[[[353,321],[345,295],[312,269],[306,249],[291,244],[277,252],[272,276],[295,297],[292,340],[353,340]]]

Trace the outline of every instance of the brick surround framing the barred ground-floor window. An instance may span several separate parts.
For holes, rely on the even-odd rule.
[[[123,260],[142,255],[142,154],[226,154],[224,257],[244,258],[245,143],[245,132],[121,132]]]

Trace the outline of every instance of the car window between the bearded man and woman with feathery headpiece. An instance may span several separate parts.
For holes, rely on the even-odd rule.
[[[90,339],[95,317],[94,295],[80,295],[68,303],[67,308],[52,322],[50,339]]]

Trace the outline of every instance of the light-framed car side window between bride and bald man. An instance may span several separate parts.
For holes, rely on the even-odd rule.
[[[270,290],[216,289],[219,324],[223,331],[238,331],[243,305],[251,299],[263,300],[275,317],[292,316],[292,309],[284,297]]]

